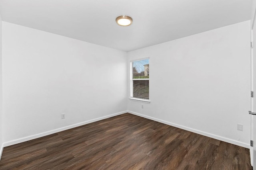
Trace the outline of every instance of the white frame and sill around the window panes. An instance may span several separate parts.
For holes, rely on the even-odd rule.
[[[149,59],[149,57],[146,57],[146,58],[142,58],[142,59],[136,59],[136,60],[131,60],[130,61],[130,100],[132,101],[136,101],[136,102],[143,102],[143,103],[150,103],[150,95],[149,95],[149,92],[148,92],[148,96],[149,96],[149,99],[141,99],[141,98],[134,98],[133,97],[133,80],[148,80],[149,82],[149,78],[133,78],[133,62],[134,61],[141,61],[141,60],[146,60],[146,59]],[[150,90],[149,90],[150,91]]]

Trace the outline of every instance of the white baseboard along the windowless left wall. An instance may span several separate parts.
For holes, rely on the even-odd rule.
[[[22,137],[22,138],[19,138],[19,139],[14,139],[12,141],[7,141],[7,142],[3,143],[2,148],[3,147],[8,147],[10,145],[15,145],[15,144],[18,144],[18,143],[30,141],[32,139],[44,137],[44,136],[47,136],[47,135],[51,135],[51,134],[54,134],[54,133],[58,133],[60,131],[65,131],[65,130],[68,130],[68,129],[72,129],[74,127],[86,125],[88,123],[92,123],[92,122],[100,121],[100,120],[103,120],[103,119],[107,119],[109,117],[114,117],[114,116],[117,116],[117,115],[122,115],[122,114],[127,113],[127,112],[128,111],[121,111],[119,113],[114,113],[114,114],[106,115],[106,116],[99,117],[99,118],[96,118],[96,119],[91,119],[91,120],[88,120],[88,121],[83,121],[81,123],[76,123],[76,124],[73,124],[73,125],[68,125],[68,126],[65,126],[65,127],[61,127],[61,128],[58,128],[58,129],[51,130],[51,131],[46,131],[46,132],[43,132],[43,133],[38,133],[38,134],[35,134],[35,135],[30,135],[30,136]]]

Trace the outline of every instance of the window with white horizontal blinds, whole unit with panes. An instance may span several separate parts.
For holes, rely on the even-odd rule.
[[[149,59],[130,63],[131,100],[149,103]]]

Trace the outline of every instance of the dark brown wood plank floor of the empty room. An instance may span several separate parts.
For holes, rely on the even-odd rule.
[[[252,170],[249,149],[129,113],[5,147],[1,170]]]

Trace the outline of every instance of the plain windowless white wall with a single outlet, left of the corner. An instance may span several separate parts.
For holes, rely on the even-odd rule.
[[[2,42],[6,145],[127,109],[127,53],[8,22]]]

